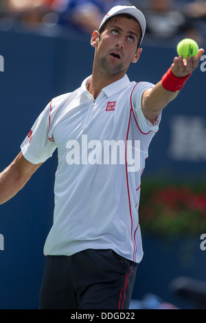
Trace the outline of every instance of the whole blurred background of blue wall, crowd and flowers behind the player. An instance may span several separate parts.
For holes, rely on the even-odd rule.
[[[0,170],[19,153],[45,105],[91,74],[91,33],[119,4],[137,6],[147,20],[144,50],[128,70],[130,80],[158,82],[182,38],[206,48],[206,1],[0,0]],[[133,309],[205,307],[205,298],[200,305],[198,294],[185,297],[173,283],[185,277],[204,286],[206,280],[206,250],[201,248],[206,234],[205,80],[203,56],[179,97],[163,111],[150,146],[139,205],[144,259]],[[0,309],[38,309],[56,166],[54,153],[0,207]]]

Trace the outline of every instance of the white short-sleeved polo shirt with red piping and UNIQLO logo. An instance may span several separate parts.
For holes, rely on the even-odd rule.
[[[130,82],[125,75],[94,100],[86,89],[89,78],[49,102],[21,144],[33,164],[58,148],[54,224],[44,253],[113,249],[139,263],[141,173],[161,118],[155,126],[146,120],[141,95],[154,85]]]

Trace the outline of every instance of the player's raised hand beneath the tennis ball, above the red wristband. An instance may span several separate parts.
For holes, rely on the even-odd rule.
[[[193,58],[183,59],[181,56],[175,57],[172,64],[172,73],[178,78],[184,78],[194,71],[200,62],[201,56],[205,53],[203,48],[198,49],[198,54]]]

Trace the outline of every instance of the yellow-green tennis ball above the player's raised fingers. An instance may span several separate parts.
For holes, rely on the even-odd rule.
[[[190,38],[183,39],[176,47],[177,53],[183,58],[187,58],[187,56],[196,56],[198,54],[198,49],[199,47],[196,41]]]

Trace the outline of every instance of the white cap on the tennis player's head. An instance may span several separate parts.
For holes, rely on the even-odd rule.
[[[144,14],[135,7],[135,5],[116,5],[115,7],[111,8],[102,19],[102,23],[100,23],[100,27],[104,25],[104,23],[109,19],[111,16],[115,16],[116,14],[130,14],[131,16],[134,16],[137,21],[139,22],[139,25],[141,27],[142,37],[141,41],[144,38],[144,34],[146,32],[146,19]],[[99,30],[100,30],[99,27]]]

